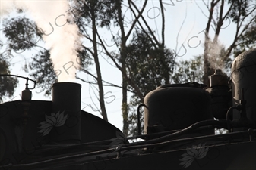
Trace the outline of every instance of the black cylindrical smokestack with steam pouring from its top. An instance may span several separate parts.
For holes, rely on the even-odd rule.
[[[52,113],[57,120],[57,127],[50,132],[52,141],[58,144],[81,143],[80,84],[57,82],[52,85]]]

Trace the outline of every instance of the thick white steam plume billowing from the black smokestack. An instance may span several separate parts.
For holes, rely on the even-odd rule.
[[[74,82],[79,69],[76,49],[80,46],[78,28],[68,16],[70,7],[66,0],[0,0],[0,17],[14,8],[21,8],[30,13],[37,26],[44,32],[43,40],[51,54],[58,82]],[[78,62],[77,62],[78,61]]]

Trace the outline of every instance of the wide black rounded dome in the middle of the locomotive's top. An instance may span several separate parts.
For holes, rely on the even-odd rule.
[[[145,131],[147,127],[160,125],[165,131],[182,129],[195,122],[213,119],[210,113],[210,95],[201,88],[158,88],[147,94],[144,104]]]

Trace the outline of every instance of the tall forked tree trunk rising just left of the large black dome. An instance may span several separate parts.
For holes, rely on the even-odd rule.
[[[128,135],[128,101],[127,101],[127,93],[128,93],[128,83],[131,84],[131,86],[134,88],[134,91],[138,95],[140,95],[140,91],[137,88],[137,86],[134,84],[133,79],[130,79],[128,77],[127,73],[127,64],[125,60],[127,59],[127,41],[128,38],[131,36],[131,32],[133,31],[134,27],[136,26],[136,23],[139,23],[139,18],[142,17],[142,13],[147,5],[147,0],[144,2],[141,10],[138,10],[134,2],[128,1],[128,9],[133,12],[134,20],[131,21],[131,26],[128,28],[128,31],[125,31],[125,14],[122,12],[122,8],[125,5],[122,5],[122,1],[116,1],[116,9],[117,9],[117,15],[114,18],[113,22],[115,23],[115,26],[119,27],[119,30],[121,32],[121,36],[112,36],[112,40],[115,42],[116,47],[119,49],[119,53],[116,53],[115,51],[109,51],[106,47],[105,43],[103,42],[103,38],[100,36],[99,32],[97,32],[97,38],[99,39],[100,45],[104,49],[104,53],[107,57],[109,57],[112,62],[115,64],[115,66],[121,71],[122,73],[122,116],[123,116],[123,133],[127,136]],[[131,8],[133,6],[136,11],[134,12],[134,9]],[[141,25],[141,24],[140,24]],[[111,29],[109,29],[110,32]],[[151,31],[152,32],[152,31]]]

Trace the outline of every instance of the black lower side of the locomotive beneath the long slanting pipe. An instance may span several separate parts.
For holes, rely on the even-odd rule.
[[[255,131],[255,130],[253,130]],[[172,147],[169,151],[158,151],[157,153],[141,153],[137,155],[128,155],[122,150],[131,150],[132,148],[120,147],[120,149],[106,149],[90,153],[73,153],[69,156],[59,156],[44,161],[25,163],[21,165],[5,165],[8,169],[182,169],[181,156],[188,153],[188,150],[193,149],[193,144],[200,144],[201,142],[208,143],[202,148],[209,148],[200,159],[195,157],[186,169],[243,169],[252,170],[256,167],[254,160],[256,159],[256,143],[255,141],[243,141],[232,143],[218,143],[217,139],[227,138],[235,140],[235,135],[240,135],[239,138],[251,135],[249,131],[237,132],[234,134],[210,135],[199,138],[188,138],[174,141],[167,141],[169,143],[179,143],[180,141],[190,141],[182,147]],[[207,139],[214,139],[214,142],[205,141]],[[196,141],[198,139],[198,141]],[[248,138],[247,140],[250,140]],[[157,145],[157,144],[153,144]],[[145,147],[145,145],[134,146],[133,148]],[[120,154],[119,154],[120,153]],[[197,153],[195,153],[197,154]],[[198,155],[198,154],[197,154]],[[117,157],[116,157],[117,156]],[[203,160],[203,161],[202,161]],[[145,164],[143,163],[145,162]],[[218,162],[218,163],[216,163]],[[246,165],[243,165],[246,163]],[[184,167],[183,167],[184,168]],[[1,168],[0,168],[1,169]]]

